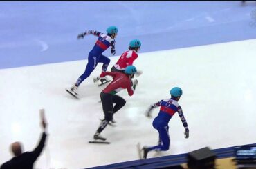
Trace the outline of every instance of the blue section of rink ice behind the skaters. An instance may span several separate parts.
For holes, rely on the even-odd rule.
[[[1,1],[0,68],[86,59],[96,37],[118,26],[116,55],[256,38],[255,1]],[[110,51],[104,52],[110,57]]]

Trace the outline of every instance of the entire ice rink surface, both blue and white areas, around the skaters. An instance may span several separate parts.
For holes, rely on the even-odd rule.
[[[103,16],[103,17],[102,17]],[[136,144],[154,146],[158,132],[144,113],[179,86],[179,103],[190,128],[183,137],[178,115],[170,121],[171,146],[148,157],[176,155],[205,146],[225,148],[255,143],[255,1],[3,1],[0,3],[0,164],[12,155],[9,145],[33,150],[39,140],[39,109],[45,108],[48,141],[35,168],[89,168],[138,159]],[[79,88],[80,99],[65,91],[84,72],[96,37],[77,41],[85,30],[120,30],[116,56],[131,39],[142,47],[134,66],[142,70],[134,96],[94,145],[103,117],[93,77]],[[104,52],[110,57],[110,52]],[[153,112],[154,117],[158,108]]]

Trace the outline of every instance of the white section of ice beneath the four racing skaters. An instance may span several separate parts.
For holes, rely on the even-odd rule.
[[[154,146],[158,133],[144,112],[150,104],[183,89],[179,101],[190,128],[183,137],[179,115],[170,121],[171,146],[150,157],[190,152],[205,146],[224,148],[256,142],[256,40],[139,53],[134,66],[143,71],[138,88],[107,126],[102,136],[110,145],[89,144],[103,117],[100,91],[93,77],[79,88],[80,99],[65,91],[82,74],[86,61],[0,70],[0,163],[12,157],[10,143],[21,141],[33,150],[39,140],[39,109],[45,108],[48,141],[36,168],[89,168],[138,159],[136,143]],[[37,57],[37,56],[35,56]],[[109,70],[118,59],[111,57]],[[158,108],[153,112],[156,116]]]

